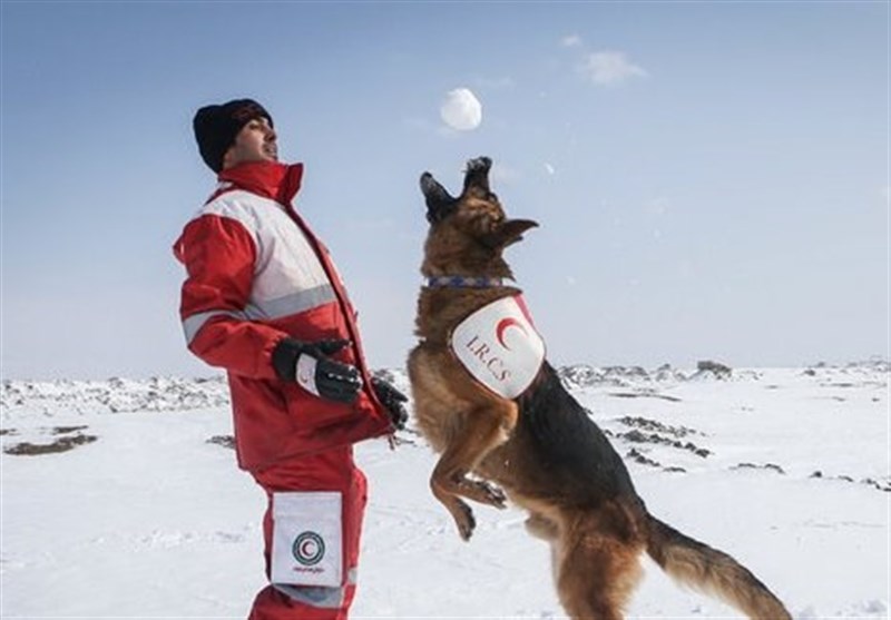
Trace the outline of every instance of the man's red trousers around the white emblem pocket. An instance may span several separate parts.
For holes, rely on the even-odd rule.
[[[343,583],[340,588],[271,583],[257,593],[248,620],[345,620],[355,596],[362,519],[368,501],[365,476],[353,462],[352,446],[295,457],[252,473],[268,496],[263,519],[267,578],[272,574],[273,493],[342,493]]]

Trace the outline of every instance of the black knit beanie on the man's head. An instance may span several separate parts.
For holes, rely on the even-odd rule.
[[[195,112],[192,126],[202,159],[215,173],[223,169],[223,156],[235,144],[235,136],[249,120],[272,117],[253,99],[233,99],[222,106],[205,106]]]

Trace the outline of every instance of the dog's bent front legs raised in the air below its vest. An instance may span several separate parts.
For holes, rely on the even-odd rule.
[[[452,437],[433,469],[430,489],[449,510],[464,540],[473,533],[476,523],[470,506],[459,498],[496,508],[507,505],[501,489],[467,476],[486,454],[507,440],[516,419],[517,405],[511,401],[503,401],[502,406],[487,406],[467,413],[464,426]]]

